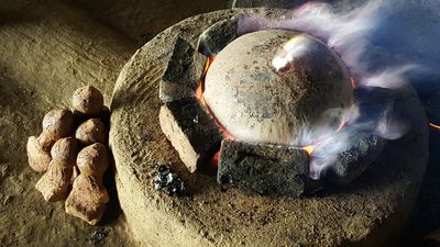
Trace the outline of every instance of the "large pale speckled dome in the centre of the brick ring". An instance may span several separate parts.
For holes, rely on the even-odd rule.
[[[287,63],[279,71],[278,53]],[[238,37],[216,56],[204,98],[234,138],[290,145],[328,110],[350,106],[353,89],[346,66],[327,44],[265,30]]]

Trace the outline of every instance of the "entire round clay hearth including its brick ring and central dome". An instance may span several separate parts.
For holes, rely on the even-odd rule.
[[[109,142],[121,209],[145,245],[395,239],[427,161],[418,98],[410,87],[364,87],[322,38],[265,24],[292,18],[189,18],[124,66]],[[396,117],[407,132],[387,138]]]

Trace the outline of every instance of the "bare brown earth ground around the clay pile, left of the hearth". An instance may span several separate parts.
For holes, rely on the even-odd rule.
[[[73,1],[72,1],[73,2]],[[28,136],[45,112],[68,108],[84,85],[110,102],[120,69],[140,44],[226,1],[0,1],[0,246],[138,246],[112,202],[98,226],[45,203],[28,166]],[[156,8],[157,5],[157,8]],[[156,8],[156,9],[155,9]]]

